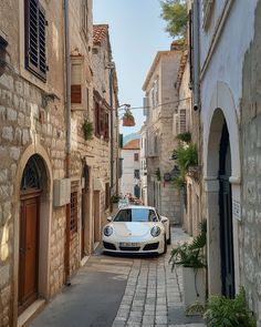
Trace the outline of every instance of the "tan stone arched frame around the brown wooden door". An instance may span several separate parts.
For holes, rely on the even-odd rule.
[[[53,176],[51,161],[46,151],[40,144],[31,144],[22,154],[18,164],[13,187],[14,228],[13,228],[13,321],[18,319],[18,277],[19,277],[19,222],[20,222],[20,186],[27,162],[32,155],[39,155],[43,166],[43,192],[40,200],[40,235],[39,235],[39,295],[50,298],[50,239],[53,201]]]

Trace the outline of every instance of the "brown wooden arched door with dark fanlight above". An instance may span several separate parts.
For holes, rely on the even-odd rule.
[[[22,174],[19,223],[19,314],[39,296],[40,157],[32,155]]]

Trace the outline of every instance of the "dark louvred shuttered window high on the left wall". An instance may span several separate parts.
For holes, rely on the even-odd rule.
[[[46,81],[45,10],[39,0],[24,1],[25,68]]]

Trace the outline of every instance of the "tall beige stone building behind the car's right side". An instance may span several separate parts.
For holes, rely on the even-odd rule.
[[[177,110],[175,82],[181,51],[159,51],[143,85],[145,92],[147,196],[171,223],[180,221],[179,192],[170,182],[173,151],[177,144],[173,133],[173,115]]]

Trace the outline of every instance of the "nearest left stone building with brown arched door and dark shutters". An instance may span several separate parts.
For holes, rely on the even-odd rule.
[[[91,0],[1,2],[0,326],[22,326],[100,238],[111,130],[92,135],[102,94],[92,51]],[[116,73],[112,81],[107,111],[117,106]]]

